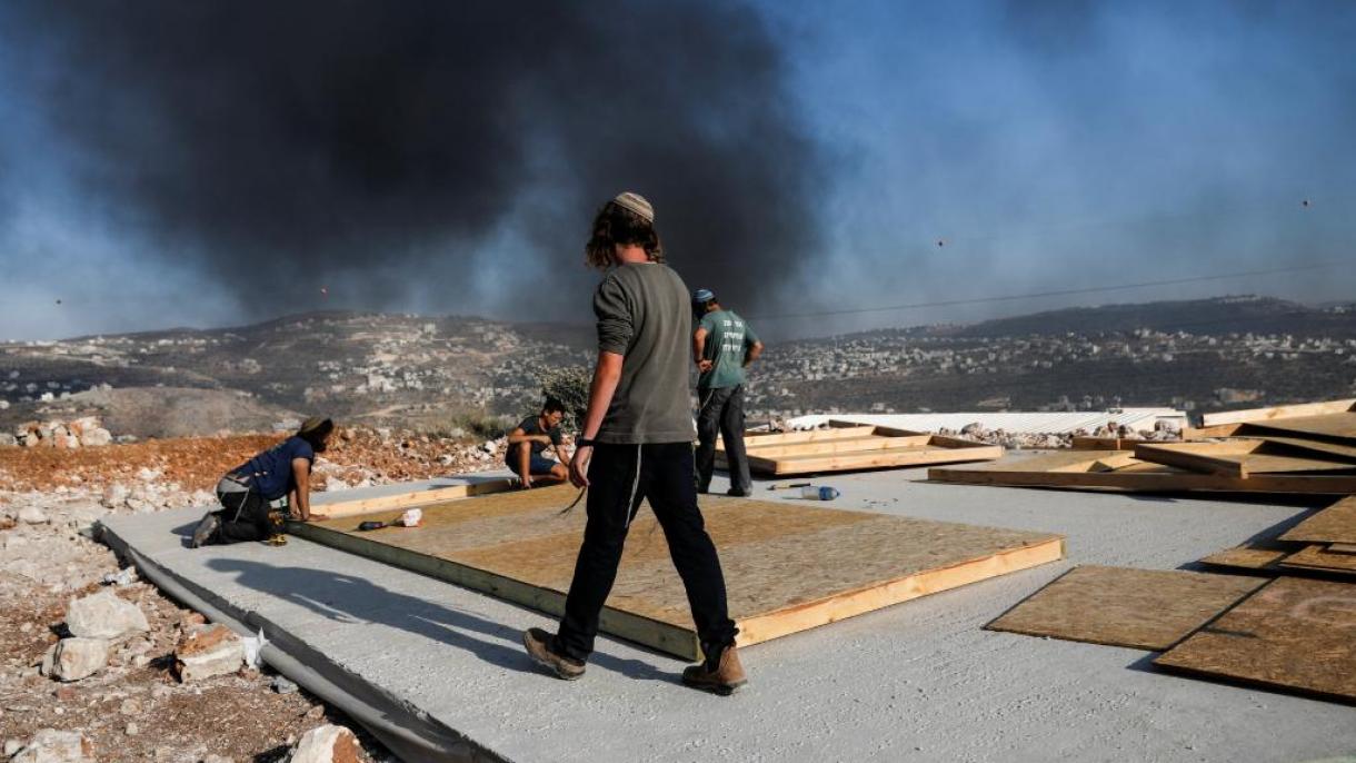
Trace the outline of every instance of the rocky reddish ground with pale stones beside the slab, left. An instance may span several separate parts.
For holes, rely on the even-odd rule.
[[[5,758],[389,758],[336,710],[266,667],[250,668],[237,639],[217,644],[201,615],[137,580],[94,539],[98,521],[108,515],[212,505],[220,475],[274,440],[194,437],[73,451],[0,447]],[[495,441],[344,429],[317,459],[316,477],[321,489],[336,490],[496,468],[502,449]],[[118,616],[130,625],[99,631]],[[332,724],[359,732],[357,744]]]

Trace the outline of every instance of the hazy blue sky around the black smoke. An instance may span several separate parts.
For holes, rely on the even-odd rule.
[[[789,1],[757,10],[786,67],[788,118],[803,121],[824,164],[815,194],[822,251],[788,262],[770,300],[777,312],[1353,259],[1356,4]],[[193,258],[164,251],[134,209],[80,185],[94,160],[45,121],[33,79],[16,76],[9,45],[22,37],[0,35],[0,337],[220,326],[286,312],[241,304]],[[473,257],[495,262],[525,246],[522,235],[510,217]],[[675,265],[681,257],[674,253]],[[553,274],[540,259],[485,267],[456,312],[587,319],[586,292],[579,310],[506,310],[523,288],[519,277],[536,284]],[[785,319],[776,334],[1219,293],[1349,300],[1353,286],[1351,267],[1328,267]],[[438,295],[435,284],[411,278],[382,304],[324,304],[446,312]]]

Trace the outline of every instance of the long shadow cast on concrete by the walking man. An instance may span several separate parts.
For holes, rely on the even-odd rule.
[[[247,559],[210,559],[207,567],[235,573],[240,585],[300,604],[335,622],[384,625],[464,649],[499,668],[542,672],[523,650],[522,631],[465,610],[392,591],[366,578]],[[595,652],[589,664],[633,680],[678,680],[677,675],[664,673],[640,660],[625,660],[601,652]]]

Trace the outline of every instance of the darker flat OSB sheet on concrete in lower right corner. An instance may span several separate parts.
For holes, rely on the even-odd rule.
[[[1155,665],[1356,699],[1356,585],[1281,577],[1207,625]]]

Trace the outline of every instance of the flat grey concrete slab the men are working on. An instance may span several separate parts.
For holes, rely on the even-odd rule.
[[[300,539],[188,550],[190,512],[107,527],[224,610],[302,641],[393,709],[464,736],[464,756],[1304,760],[1356,751],[1352,707],[1154,672],[1147,652],[980,630],[1073,565],[1173,569],[1303,508],[923,478],[822,482],[843,493],[829,506],[1060,532],[1067,559],[754,646],[743,654],[751,683],[732,698],[686,690],[682,663],[607,638],[580,682],[548,677],[518,641],[522,629],[552,627],[548,618]]]

